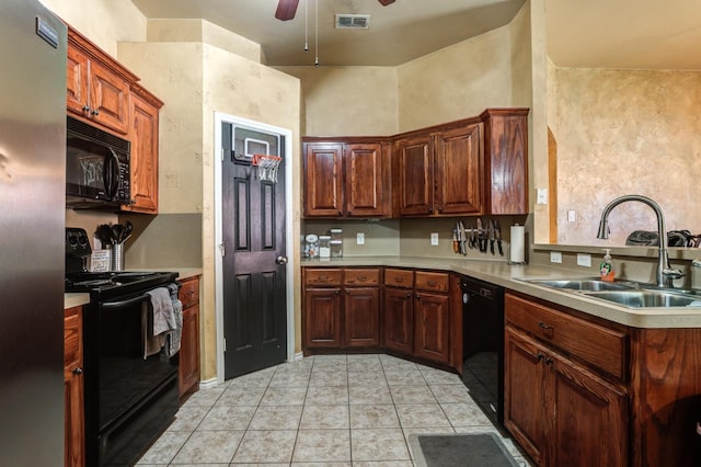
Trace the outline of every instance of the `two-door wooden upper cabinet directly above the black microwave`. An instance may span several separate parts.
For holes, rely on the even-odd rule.
[[[122,135],[127,134],[129,82],[138,78],[85,37],[68,29],[69,112]]]

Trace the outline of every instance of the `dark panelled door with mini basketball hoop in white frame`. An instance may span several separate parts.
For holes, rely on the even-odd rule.
[[[269,138],[269,152],[275,155],[285,147],[283,137],[275,137],[222,124],[226,378],[276,365],[287,355],[285,264],[278,260],[286,254],[285,164],[276,183],[262,181],[239,143],[232,147],[232,141]]]

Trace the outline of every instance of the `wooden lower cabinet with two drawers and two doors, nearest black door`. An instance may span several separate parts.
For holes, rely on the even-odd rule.
[[[302,345],[315,349],[377,349],[380,270],[314,267],[303,271]]]

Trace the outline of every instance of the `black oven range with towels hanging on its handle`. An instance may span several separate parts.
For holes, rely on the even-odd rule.
[[[69,230],[84,235],[70,228],[67,238]],[[176,296],[177,273],[87,272],[81,255],[89,250],[67,241],[66,292],[90,294],[83,306],[85,465],[128,466],[177,411],[177,354],[147,344],[149,293],[164,287]]]

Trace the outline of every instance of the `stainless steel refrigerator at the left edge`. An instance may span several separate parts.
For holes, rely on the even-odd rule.
[[[0,4],[0,465],[64,463],[66,26]]]

